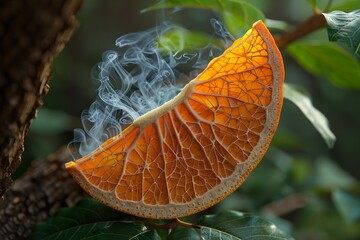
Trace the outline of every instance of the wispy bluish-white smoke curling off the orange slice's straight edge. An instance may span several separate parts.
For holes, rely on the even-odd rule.
[[[219,22],[211,23],[225,40],[224,45],[228,45],[227,31]],[[124,35],[116,40],[116,51],[103,54],[93,71],[93,78],[99,82],[98,98],[83,111],[83,129],[74,130],[74,139],[69,144],[74,159],[89,154],[139,116],[174,98],[191,76],[196,76],[223,51],[209,45],[183,53],[181,36],[176,52],[159,45],[159,38],[174,28],[177,27],[164,24]]]

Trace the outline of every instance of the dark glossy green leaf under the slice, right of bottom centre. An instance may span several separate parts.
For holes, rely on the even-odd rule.
[[[293,239],[265,219],[236,211],[203,216],[198,225],[206,240]]]

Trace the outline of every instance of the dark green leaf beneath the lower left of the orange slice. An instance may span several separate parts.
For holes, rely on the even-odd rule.
[[[29,239],[159,239],[154,230],[131,222],[130,218],[86,198],[38,225]]]

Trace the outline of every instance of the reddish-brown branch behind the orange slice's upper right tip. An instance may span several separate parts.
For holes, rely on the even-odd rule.
[[[284,49],[288,44],[323,27],[326,27],[324,15],[322,13],[315,13],[310,18],[300,23],[295,29],[283,35],[275,36],[275,42],[279,49]]]

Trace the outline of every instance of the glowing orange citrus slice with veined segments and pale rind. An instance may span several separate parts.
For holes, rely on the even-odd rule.
[[[95,199],[179,218],[232,193],[265,154],[283,102],[281,54],[258,21],[164,105],[66,168]]]

